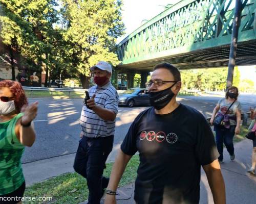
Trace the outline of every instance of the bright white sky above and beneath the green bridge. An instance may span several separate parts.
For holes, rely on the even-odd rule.
[[[122,41],[127,35],[135,31],[143,20],[150,20],[164,11],[167,4],[176,4],[180,0],[123,0],[122,18],[125,25],[125,35],[119,37],[117,42]],[[231,39],[230,39],[231,40]],[[256,66],[239,67],[241,80],[250,79],[256,89]]]

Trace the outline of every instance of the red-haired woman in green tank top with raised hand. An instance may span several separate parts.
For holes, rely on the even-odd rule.
[[[21,158],[25,146],[32,146],[35,131],[32,120],[38,103],[28,106],[18,82],[0,82],[0,203],[22,203],[25,179]]]

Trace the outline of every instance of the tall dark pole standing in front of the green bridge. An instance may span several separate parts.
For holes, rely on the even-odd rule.
[[[227,86],[226,89],[233,84],[234,65],[236,65],[237,48],[238,48],[238,32],[241,21],[242,1],[236,0],[236,7],[234,8],[234,20],[232,29],[232,39],[230,44]]]

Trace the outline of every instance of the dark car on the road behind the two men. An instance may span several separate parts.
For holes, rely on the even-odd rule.
[[[150,98],[146,89],[127,89],[119,95],[119,106],[134,107],[137,105],[150,105]]]

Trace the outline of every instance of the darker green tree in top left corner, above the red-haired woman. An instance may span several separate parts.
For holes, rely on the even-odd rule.
[[[14,74],[14,53],[26,59],[26,67],[41,70],[42,63],[49,64],[46,53],[51,45],[52,25],[57,21],[54,0],[0,0],[3,25],[0,37],[9,47]]]

